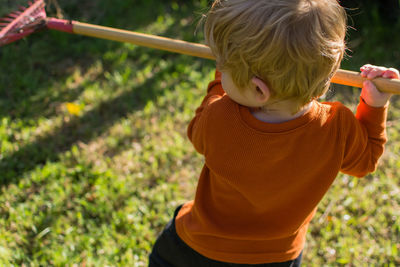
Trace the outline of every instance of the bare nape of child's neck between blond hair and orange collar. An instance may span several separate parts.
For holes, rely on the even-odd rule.
[[[296,119],[311,109],[313,102],[303,106],[296,114],[292,114],[293,102],[281,101],[263,108],[250,108],[251,114],[260,121],[282,123]]]

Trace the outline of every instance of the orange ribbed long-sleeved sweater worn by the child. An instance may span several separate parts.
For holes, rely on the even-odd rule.
[[[271,124],[225,95],[220,75],[188,127],[205,157],[194,201],[176,217],[179,237],[208,258],[258,264],[296,258],[317,204],[339,171],[376,169],[387,108],[360,101],[314,102],[294,120]]]

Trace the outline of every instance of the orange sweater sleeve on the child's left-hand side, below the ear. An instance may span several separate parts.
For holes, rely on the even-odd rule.
[[[209,116],[209,107],[224,95],[225,92],[221,85],[221,73],[216,70],[215,79],[208,84],[207,95],[204,97],[201,105],[196,109],[196,114],[189,123],[187,129],[189,140],[193,143],[197,152],[201,154],[204,154],[205,149],[204,139],[206,134],[207,117]]]

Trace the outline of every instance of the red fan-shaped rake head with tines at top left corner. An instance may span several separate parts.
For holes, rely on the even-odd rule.
[[[20,7],[20,11],[13,12],[0,19],[0,46],[23,38],[42,27],[46,23],[46,12],[43,0],[29,2],[29,7]]]

